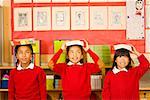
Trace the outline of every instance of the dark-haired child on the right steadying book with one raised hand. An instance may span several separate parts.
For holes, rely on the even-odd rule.
[[[129,45],[128,45],[129,46]],[[149,62],[133,46],[115,51],[112,70],[104,80],[103,100],[139,100],[139,80],[149,68]],[[132,68],[130,52],[138,57],[139,65]]]

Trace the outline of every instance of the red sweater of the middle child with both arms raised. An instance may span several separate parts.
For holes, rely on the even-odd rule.
[[[62,53],[59,50],[52,58],[54,71],[61,75],[63,96],[65,100],[89,100],[91,93],[90,75],[99,72],[96,62],[98,56],[91,50],[88,53],[95,58],[95,63],[85,63],[83,65],[67,65],[66,63],[56,64],[58,57]]]

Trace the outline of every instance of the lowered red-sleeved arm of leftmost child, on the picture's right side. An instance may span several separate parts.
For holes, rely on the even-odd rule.
[[[46,100],[46,74],[42,69],[40,69],[38,80],[41,100]]]

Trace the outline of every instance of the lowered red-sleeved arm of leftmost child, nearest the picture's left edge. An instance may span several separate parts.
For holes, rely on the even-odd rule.
[[[14,71],[10,72],[8,81],[8,100],[15,100],[15,84],[14,84]]]

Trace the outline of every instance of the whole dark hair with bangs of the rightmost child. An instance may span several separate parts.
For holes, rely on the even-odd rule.
[[[115,54],[114,54],[114,60],[113,60],[113,65],[112,65],[112,69],[114,68],[114,66],[117,67],[117,63],[115,62],[115,60],[117,59],[118,56],[127,56],[129,58],[129,63],[128,65],[126,66],[126,69],[128,70],[129,68],[131,68],[131,56],[130,56],[130,51],[127,50],[127,49],[118,49],[115,51]]]

